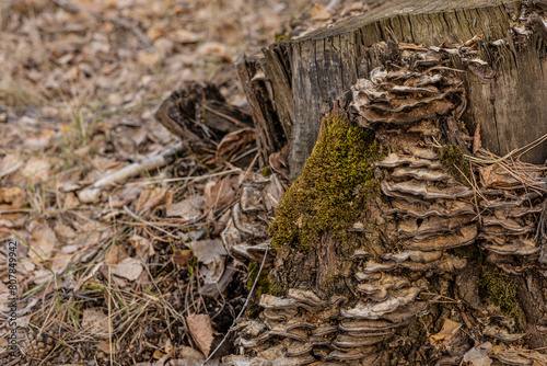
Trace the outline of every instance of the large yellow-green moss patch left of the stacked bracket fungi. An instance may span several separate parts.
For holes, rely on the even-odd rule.
[[[328,232],[342,253],[352,250],[358,238],[348,229],[381,192],[371,164],[380,158],[373,133],[341,116],[326,118],[301,176],[276,210],[272,248],[311,251]]]

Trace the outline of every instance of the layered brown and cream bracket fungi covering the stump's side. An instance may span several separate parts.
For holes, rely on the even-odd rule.
[[[379,47],[386,55],[393,45]],[[464,355],[477,359],[473,358],[480,353],[474,348],[477,341],[490,340],[500,344],[492,356],[497,362],[532,365],[507,361],[519,357],[511,358],[503,344],[523,340],[514,322],[508,325],[508,317],[486,310],[466,316],[466,297],[451,296],[463,271],[480,276],[473,274],[478,271],[477,258],[465,255],[466,251],[479,253],[480,265],[500,273],[543,265],[536,235],[544,191],[508,174],[508,167],[470,165],[466,160],[464,153],[473,150],[473,138],[459,122],[466,92],[457,70],[445,65],[449,53],[410,45],[391,50],[396,57],[384,59],[384,67],[352,88],[354,119],[374,131],[384,151],[371,164],[379,194],[369,197],[366,210],[347,227],[351,235],[322,233],[315,247],[306,249],[298,243],[303,237],[295,235],[282,255],[277,252],[270,279],[281,290],[261,295],[258,317],[235,325],[241,354],[224,357],[224,364],[400,365],[404,357],[407,365],[458,365]],[[303,176],[306,169],[311,168],[306,164]],[[522,165],[519,172],[538,182],[533,167]],[[354,188],[356,202],[362,186]],[[259,197],[258,192],[251,188],[244,195]],[[347,203],[348,209],[353,204]],[[243,206],[234,208],[224,242],[234,255],[259,261],[255,253],[264,244],[255,241],[243,249],[242,242],[265,237],[266,228],[247,228],[248,219],[236,217],[238,211],[248,215],[264,207]],[[303,230],[306,215],[311,214],[294,216],[293,226]],[[344,247],[340,238],[352,240],[350,254],[333,249]],[[299,254],[302,263],[286,266],[287,251]],[[294,268],[309,272],[304,266],[310,263],[315,272],[307,277],[279,275]],[[338,285],[328,287],[329,281]],[[446,324],[457,327],[449,331]],[[429,338],[433,331],[439,333]]]

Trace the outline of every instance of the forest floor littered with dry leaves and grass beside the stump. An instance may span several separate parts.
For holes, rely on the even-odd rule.
[[[341,1],[338,15],[373,5]],[[234,59],[334,21],[313,7],[0,3],[1,365],[202,363],[242,308],[247,275],[236,262],[225,296],[201,296],[212,255],[190,247],[222,252],[219,233],[256,159],[242,169],[183,153],[114,186],[85,187],[177,146],[154,112],[184,82],[210,81],[245,107]],[[214,358],[233,351],[226,343]]]

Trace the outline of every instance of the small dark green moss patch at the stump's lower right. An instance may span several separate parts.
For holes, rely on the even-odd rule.
[[[488,294],[488,298],[501,311],[522,324],[523,313],[516,300],[516,284],[510,277],[502,275],[493,265],[482,267],[479,285]]]

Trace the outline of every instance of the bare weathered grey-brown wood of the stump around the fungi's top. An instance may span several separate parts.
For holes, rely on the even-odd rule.
[[[545,7],[536,1],[534,7]],[[524,7],[524,5],[523,5]],[[392,1],[363,15],[313,31],[264,49],[263,72],[271,85],[276,118],[291,125],[291,178],[311,153],[319,117],[333,102],[349,99],[356,80],[380,66],[371,45],[393,38],[427,46],[462,44],[479,35],[479,56],[492,78],[464,77],[469,104],[463,116],[473,131],[481,125],[484,146],[498,155],[522,147],[547,133],[544,49],[540,32],[519,44],[513,26],[523,9],[516,1]],[[507,39],[496,46],[488,42]],[[457,60],[454,67],[458,67]],[[531,128],[531,126],[533,126]],[[288,131],[286,131],[288,134]],[[547,149],[527,152],[523,160],[543,163]]]

